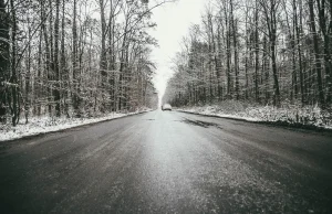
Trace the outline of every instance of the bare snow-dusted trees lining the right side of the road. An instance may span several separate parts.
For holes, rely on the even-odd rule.
[[[164,101],[332,103],[332,2],[210,0],[175,60]]]

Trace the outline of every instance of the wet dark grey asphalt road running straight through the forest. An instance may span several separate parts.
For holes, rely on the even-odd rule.
[[[332,213],[332,135],[152,111],[0,143],[0,213]]]

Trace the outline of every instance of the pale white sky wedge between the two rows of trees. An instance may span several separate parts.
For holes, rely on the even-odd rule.
[[[180,51],[180,42],[188,34],[189,26],[200,23],[206,3],[206,0],[178,0],[153,11],[152,20],[157,23],[157,28],[151,34],[158,40],[159,47],[153,50],[152,60],[157,66],[154,84],[159,98],[164,95],[167,81],[173,75],[172,60],[176,52]]]

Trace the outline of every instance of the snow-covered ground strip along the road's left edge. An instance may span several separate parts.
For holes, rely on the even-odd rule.
[[[24,122],[25,121],[24,119],[21,119],[21,121],[15,127],[12,127],[10,125],[0,126],[0,142],[19,139],[28,136],[35,136],[39,133],[64,130],[73,127],[79,127],[82,125],[111,120],[111,119],[125,117],[129,115],[136,115],[149,110],[151,109],[144,109],[144,110],[127,113],[127,114],[112,113],[110,115],[97,117],[97,118],[33,117],[29,119],[28,124]]]

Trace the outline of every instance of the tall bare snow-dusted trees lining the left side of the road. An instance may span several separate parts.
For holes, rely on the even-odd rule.
[[[154,107],[147,0],[0,0],[0,119]]]

